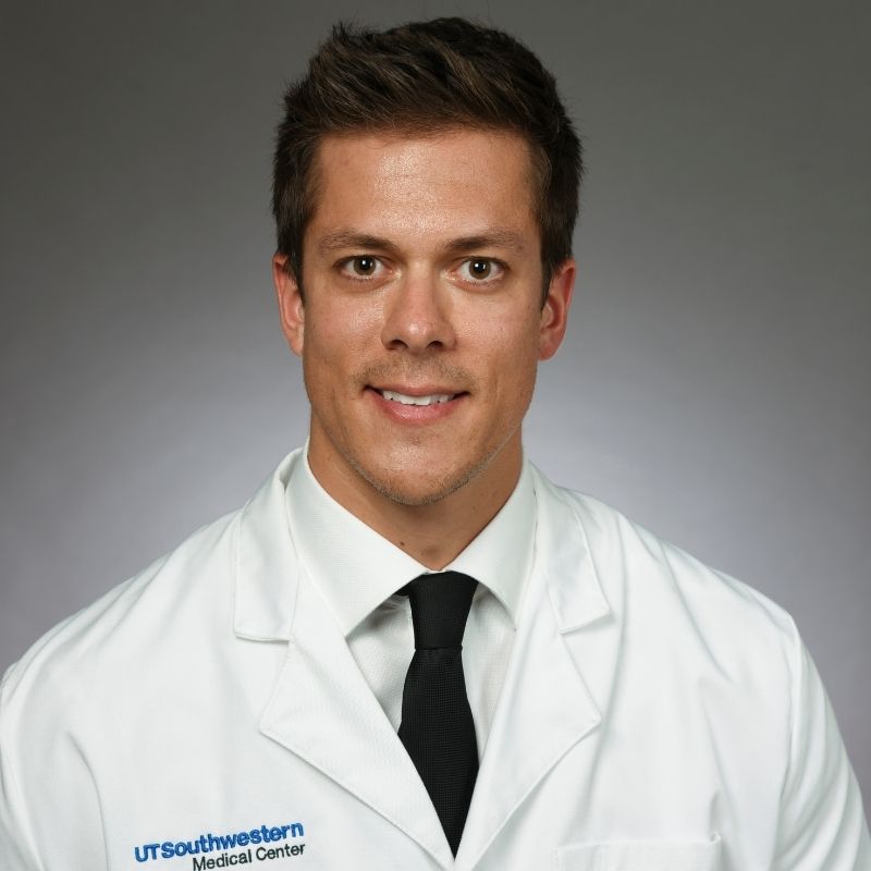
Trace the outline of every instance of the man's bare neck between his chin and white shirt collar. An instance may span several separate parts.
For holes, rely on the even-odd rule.
[[[339,457],[323,457],[309,449],[312,474],[340,505],[433,571],[455,560],[507,502],[517,484],[520,463],[517,439],[450,495],[424,505],[406,505],[385,496]]]

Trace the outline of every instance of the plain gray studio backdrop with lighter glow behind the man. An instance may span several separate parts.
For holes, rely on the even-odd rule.
[[[586,136],[532,458],[796,617],[871,796],[869,4],[0,11],[0,667],[306,432],[269,278],[282,83],[339,16],[524,38]]]

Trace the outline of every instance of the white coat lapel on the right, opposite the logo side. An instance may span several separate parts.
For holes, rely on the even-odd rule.
[[[478,862],[536,785],[601,722],[566,636],[608,618],[610,608],[576,513],[539,474],[535,482],[536,557],[457,869]]]

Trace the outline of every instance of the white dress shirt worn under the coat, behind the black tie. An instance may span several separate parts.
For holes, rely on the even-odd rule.
[[[287,482],[287,517],[299,562],[335,617],[351,653],[398,729],[405,674],[414,654],[408,598],[396,594],[432,569],[421,565],[340,505],[306,462]],[[463,671],[483,752],[524,599],[536,533],[536,494],[528,464],[508,501],[443,571],[478,580],[463,638]]]

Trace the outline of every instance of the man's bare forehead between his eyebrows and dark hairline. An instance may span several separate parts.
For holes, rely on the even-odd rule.
[[[501,131],[354,133],[320,143],[309,230],[389,234],[538,233],[535,168],[526,142]]]

